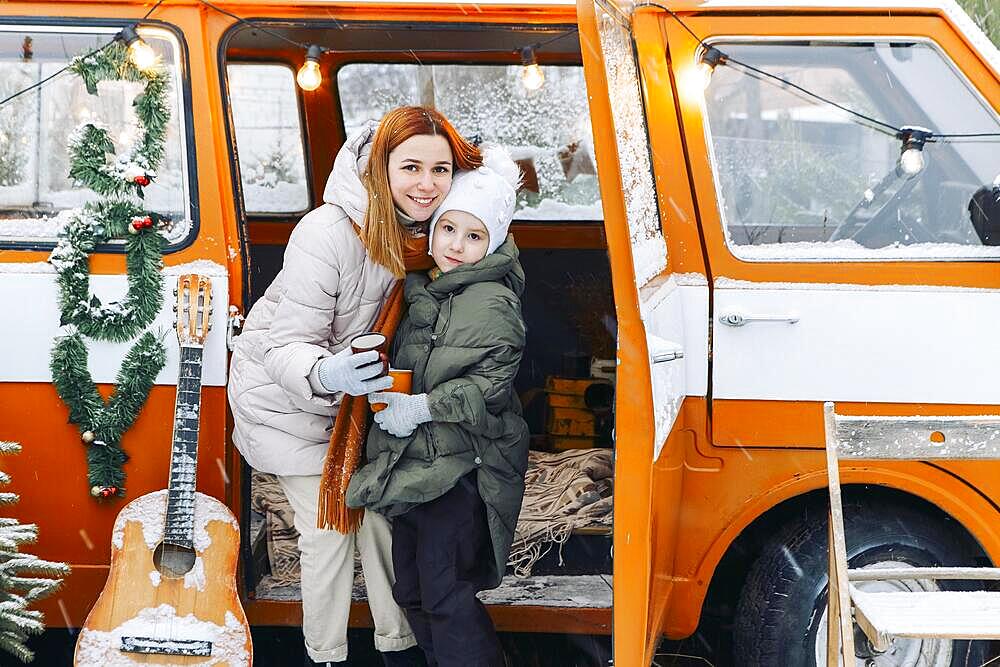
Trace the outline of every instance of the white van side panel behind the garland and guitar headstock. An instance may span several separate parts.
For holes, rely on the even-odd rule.
[[[179,357],[174,330],[173,291],[180,271],[171,267],[164,273],[167,272],[173,275],[164,275],[163,309],[149,326],[154,333],[164,334],[167,348],[167,363],[156,376],[156,384],[159,385],[177,384]],[[214,311],[212,330],[205,341],[202,385],[220,387],[226,384],[229,282],[224,275],[213,275],[211,280]],[[104,303],[108,303],[122,298],[128,284],[124,275],[91,276],[90,289]],[[59,326],[58,287],[51,267],[47,264],[0,264],[0,312],[4,313],[6,325],[0,330],[0,349],[3,350],[0,382],[51,382],[49,355],[53,339],[65,333]],[[89,338],[86,341],[94,382],[114,382],[121,362],[134,341],[106,343]]]

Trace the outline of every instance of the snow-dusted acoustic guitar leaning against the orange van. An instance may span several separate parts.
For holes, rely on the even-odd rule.
[[[211,287],[203,276],[178,278],[180,370],[169,485],[119,512],[108,581],[77,639],[78,667],[252,664],[236,592],[239,524],[228,507],[195,491]]]

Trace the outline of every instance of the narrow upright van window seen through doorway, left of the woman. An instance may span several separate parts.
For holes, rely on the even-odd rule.
[[[233,63],[226,70],[246,212],[305,211],[311,198],[295,73],[277,64]]]

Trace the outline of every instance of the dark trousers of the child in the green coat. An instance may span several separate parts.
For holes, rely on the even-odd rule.
[[[475,473],[392,523],[392,595],[431,667],[503,667],[493,621],[476,593],[492,571],[486,507]]]

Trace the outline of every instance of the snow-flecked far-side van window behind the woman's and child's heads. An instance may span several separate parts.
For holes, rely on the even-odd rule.
[[[472,140],[500,143],[524,175],[517,220],[601,220],[583,69],[544,66],[530,90],[505,65],[354,63],[337,74],[348,133],[405,104],[433,106]]]

